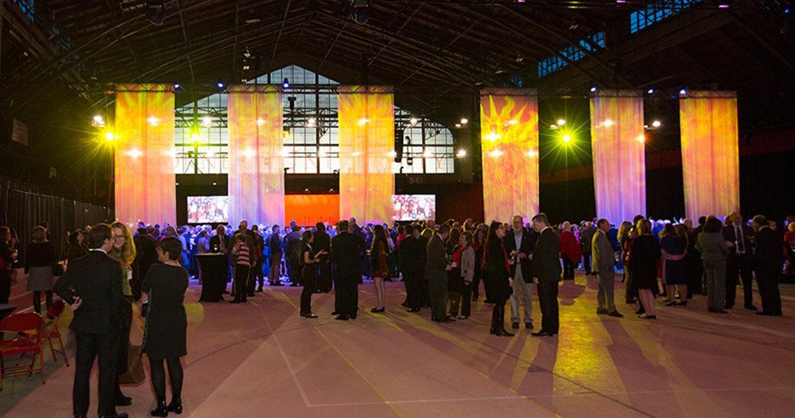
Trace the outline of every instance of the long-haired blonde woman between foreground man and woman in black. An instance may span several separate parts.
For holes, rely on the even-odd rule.
[[[133,323],[133,288],[130,286],[130,281],[133,280],[134,274],[138,274],[138,264],[135,262],[135,242],[133,241],[133,234],[130,234],[130,228],[120,222],[111,224],[113,230],[113,248],[107,255],[111,256],[114,260],[122,265],[122,293],[127,301],[122,307],[124,309],[124,328],[122,328],[121,338],[118,339],[118,360],[116,361],[116,404],[118,406],[126,406],[133,403],[131,397],[124,396],[122,388],[118,385],[118,376],[126,373],[127,371],[127,354],[130,352],[130,326]]]

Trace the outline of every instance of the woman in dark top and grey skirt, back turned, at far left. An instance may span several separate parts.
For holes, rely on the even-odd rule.
[[[33,242],[25,250],[25,274],[28,275],[28,292],[33,292],[33,309],[41,314],[41,292],[47,294],[47,308],[52,304],[52,268],[58,262],[55,247],[47,241],[44,226],[33,228]]]

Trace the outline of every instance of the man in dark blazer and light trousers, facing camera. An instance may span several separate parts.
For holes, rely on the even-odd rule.
[[[537,238],[535,231],[525,228],[524,222],[522,216],[514,216],[511,229],[505,236],[508,257],[519,261],[510,265],[510,277],[514,279],[513,293],[510,296],[510,323],[514,330],[519,329],[520,297],[525,302],[525,328],[533,329],[533,273],[530,254],[533,254]]]

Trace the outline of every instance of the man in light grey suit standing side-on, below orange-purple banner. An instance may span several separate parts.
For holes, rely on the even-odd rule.
[[[615,252],[607,238],[607,231],[610,230],[610,223],[607,219],[599,219],[596,221],[596,233],[591,240],[591,254],[593,254],[593,271],[597,275],[599,281],[599,291],[596,292],[596,300],[599,307],[596,308],[596,313],[599,315],[611,315],[622,318],[618,311],[615,310],[615,303],[613,303],[613,287],[615,286]]]

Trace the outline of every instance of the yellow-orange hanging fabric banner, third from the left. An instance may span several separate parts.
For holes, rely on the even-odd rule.
[[[339,215],[359,223],[392,219],[392,87],[339,87]],[[363,223],[362,223],[363,221]]]

